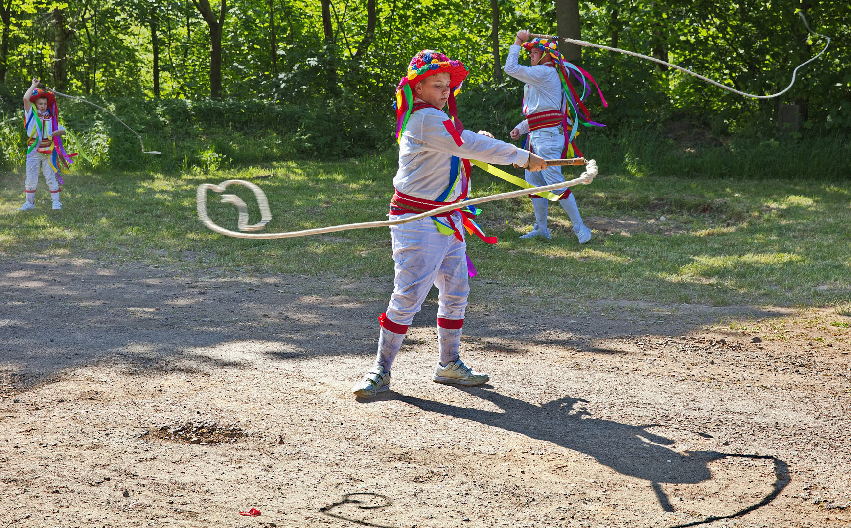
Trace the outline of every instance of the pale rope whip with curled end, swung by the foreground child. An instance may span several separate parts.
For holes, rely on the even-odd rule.
[[[408,222],[414,222],[414,220],[427,219],[428,217],[436,214],[454,211],[460,207],[478,205],[484,202],[494,202],[496,200],[507,200],[508,198],[516,198],[517,196],[540,194],[548,190],[564,189],[565,187],[573,187],[574,185],[588,185],[595,176],[597,176],[597,162],[594,160],[588,160],[585,163],[585,172],[580,174],[579,178],[571,179],[567,182],[543,185],[541,187],[532,187],[529,189],[512,190],[511,192],[503,192],[498,195],[482,196],[481,198],[472,198],[471,200],[465,200],[463,202],[450,203],[443,207],[437,207],[436,209],[431,209],[431,211],[426,211],[426,213],[415,214],[407,219],[363,222],[361,224],[333,225],[331,227],[319,227],[312,230],[289,231],[288,233],[240,233],[239,231],[226,230],[225,228],[215,224],[213,220],[210,219],[207,213],[207,191],[214,190],[215,192],[224,192],[228,185],[237,184],[244,185],[248,187],[248,189],[252,190],[254,192],[254,196],[257,198],[257,205],[260,206],[260,222],[248,225],[248,206],[245,202],[243,202],[242,198],[237,195],[221,196],[222,202],[232,203],[237,206],[237,211],[239,212],[239,219],[237,220],[238,229],[243,231],[256,231],[263,229],[266,224],[269,223],[271,220],[271,212],[269,211],[269,201],[266,199],[266,193],[264,193],[257,185],[243,179],[228,179],[221,182],[219,185],[198,185],[196,202],[198,218],[201,219],[201,222],[209,229],[214,230],[216,233],[220,233],[221,235],[233,236],[236,238],[293,238],[295,236],[323,235],[324,233],[334,233],[335,231],[362,230],[370,227],[390,227],[391,225],[407,224]]]

